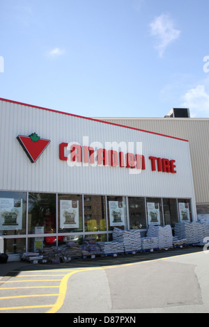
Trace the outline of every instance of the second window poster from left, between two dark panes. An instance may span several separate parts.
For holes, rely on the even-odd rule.
[[[60,200],[60,228],[79,228],[79,201]]]

